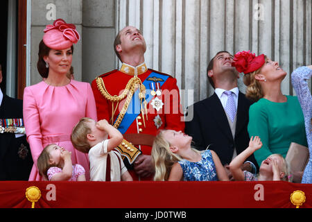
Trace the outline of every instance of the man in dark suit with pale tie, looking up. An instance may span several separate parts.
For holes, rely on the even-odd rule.
[[[225,166],[250,142],[247,126],[252,102],[239,92],[239,73],[232,67],[232,60],[227,51],[220,51],[211,59],[207,76],[215,92],[189,107],[186,119],[193,118],[185,122],[185,132],[193,137],[195,146],[201,150],[209,146]],[[259,169],[253,155],[242,167],[254,173]]]

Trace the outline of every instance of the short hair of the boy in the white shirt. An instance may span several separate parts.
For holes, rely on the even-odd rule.
[[[89,153],[91,148],[87,139],[87,134],[91,133],[90,120],[92,119],[88,117],[81,118],[76,126],[73,127],[71,133],[71,143],[78,151],[83,153]]]

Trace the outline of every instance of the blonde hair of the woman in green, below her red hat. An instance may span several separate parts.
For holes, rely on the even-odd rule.
[[[265,61],[268,60],[266,56],[264,56],[264,59]],[[254,102],[259,101],[259,99],[263,97],[261,85],[259,81],[256,80],[256,78],[254,78],[254,76],[260,73],[261,67],[257,69],[256,71],[253,71],[249,74],[245,74],[243,77],[243,83],[247,86],[245,95],[248,99]]]

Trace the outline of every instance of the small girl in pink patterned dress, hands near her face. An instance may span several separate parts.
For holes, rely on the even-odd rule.
[[[43,149],[37,167],[45,180],[85,181],[85,169],[80,164],[72,164],[71,152],[56,144]]]

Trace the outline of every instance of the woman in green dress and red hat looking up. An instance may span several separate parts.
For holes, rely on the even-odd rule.
[[[248,133],[259,136],[263,146],[254,152],[259,166],[273,153],[286,157],[291,142],[307,146],[304,128],[304,115],[297,96],[284,95],[281,82],[286,71],[278,62],[263,54],[255,56],[250,51],[242,51],[234,56],[235,66],[243,72],[243,82],[247,86],[246,96],[255,103],[250,106]],[[303,172],[293,174],[294,180]],[[298,181],[299,182],[299,181]]]

